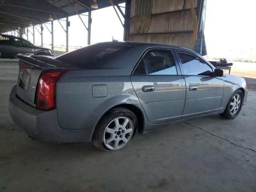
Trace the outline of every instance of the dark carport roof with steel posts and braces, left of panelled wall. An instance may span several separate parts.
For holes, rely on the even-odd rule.
[[[88,44],[90,44],[90,32],[91,32],[91,11],[95,10],[91,8],[93,0],[0,0],[0,33],[16,31],[19,36],[22,36],[22,32],[26,29],[26,32],[31,32],[28,27],[33,27],[33,43],[34,32],[38,30],[41,35],[41,46],[43,44],[43,30],[46,28],[52,35],[52,51],[53,51],[53,20],[58,20],[59,24],[66,32],[66,52],[68,52],[68,27],[70,22],[69,16],[78,15],[82,21],[82,24],[88,31]],[[97,0],[98,9],[115,5],[120,14],[124,16],[121,8],[118,6],[120,3],[130,2],[129,0]],[[115,10],[117,11],[115,7]],[[83,14],[87,13],[87,14]],[[81,18],[81,14],[88,16],[88,26]],[[46,22],[51,20],[51,29],[46,25]],[[66,26],[63,26],[59,20],[66,21]],[[40,28],[36,28],[36,26]],[[123,25],[124,26],[124,25]]]

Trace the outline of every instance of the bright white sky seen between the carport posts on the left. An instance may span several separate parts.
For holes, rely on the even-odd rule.
[[[120,6],[125,6],[124,4],[120,4]],[[123,8],[122,8],[123,9]],[[123,9],[124,12],[124,9]],[[88,13],[85,13],[88,14]],[[84,23],[88,27],[88,17],[82,16]],[[122,16],[121,16],[122,18]],[[66,18],[64,18],[65,20]],[[86,46],[87,45],[87,30],[82,24],[80,18],[75,15],[69,17],[70,27],[69,27],[69,46]],[[61,21],[62,26],[66,28],[66,21]],[[123,21],[124,22],[124,21]],[[50,22],[46,24],[49,30],[51,30]],[[55,45],[66,45],[66,33],[58,23],[58,21],[54,21],[54,46]],[[37,27],[40,30],[40,27]],[[31,31],[32,32],[32,31]],[[92,25],[91,25],[91,44],[97,42],[104,41],[112,41],[112,36],[116,40],[123,40],[124,29],[123,26],[114,11],[114,8],[107,7],[99,10],[92,11]],[[24,36],[26,38],[26,36]],[[32,34],[29,33],[29,40],[33,41]],[[44,44],[51,44],[51,34],[44,26],[43,31],[43,40]],[[35,32],[35,44],[41,44],[41,36],[36,31]]]

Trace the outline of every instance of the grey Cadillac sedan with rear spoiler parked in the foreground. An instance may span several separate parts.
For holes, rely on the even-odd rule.
[[[136,132],[212,114],[234,119],[248,94],[243,78],[176,46],[104,42],[56,58],[16,58],[10,115],[43,142],[118,150]]]

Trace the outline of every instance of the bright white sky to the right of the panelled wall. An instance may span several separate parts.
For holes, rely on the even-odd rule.
[[[225,57],[253,49],[256,55],[256,0],[207,0],[205,38],[208,55]]]

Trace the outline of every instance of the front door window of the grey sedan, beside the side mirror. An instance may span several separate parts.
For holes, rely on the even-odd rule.
[[[212,68],[196,56],[178,52],[185,75],[211,76]]]

